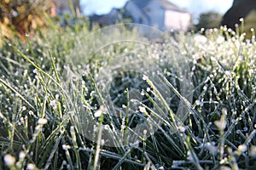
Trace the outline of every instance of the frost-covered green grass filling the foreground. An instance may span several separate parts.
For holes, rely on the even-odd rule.
[[[88,35],[87,26],[53,27],[1,48],[0,169],[256,167],[255,37],[223,27],[160,43],[113,42],[124,37],[119,31]],[[137,39],[137,31],[125,37]],[[97,43],[103,46],[94,51]],[[126,55],[132,66],[115,60]],[[144,95],[130,100],[132,88]],[[124,114],[113,116],[107,97]],[[128,116],[134,103],[140,109]],[[97,111],[104,114],[96,118]],[[142,122],[147,132],[129,144],[131,128]]]

